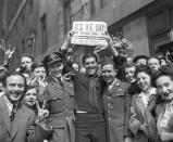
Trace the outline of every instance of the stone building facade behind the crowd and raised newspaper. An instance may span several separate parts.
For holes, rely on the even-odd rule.
[[[40,61],[58,51],[74,21],[107,22],[110,35],[121,31],[134,43],[134,56],[165,52],[171,42],[172,0],[7,0],[7,11],[5,44],[17,48],[13,68],[24,53]]]

